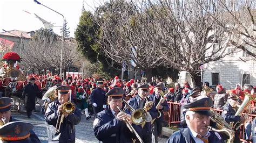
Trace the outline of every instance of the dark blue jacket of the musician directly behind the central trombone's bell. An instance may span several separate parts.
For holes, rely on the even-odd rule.
[[[139,95],[136,95],[135,97],[131,98],[128,101],[129,105],[131,105],[134,110],[139,109],[139,98],[140,98]],[[150,101],[150,99],[149,99],[149,101]],[[145,103],[146,103],[146,100],[144,101],[144,105],[145,105]],[[150,113],[152,119],[157,118],[158,111],[154,105],[147,112]],[[131,113],[131,110],[130,110],[130,113]],[[149,135],[152,133],[151,122],[147,122],[143,128],[141,125],[134,125],[134,128],[137,131],[137,133],[141,134],[141,135],[146,135],[146,134]]]

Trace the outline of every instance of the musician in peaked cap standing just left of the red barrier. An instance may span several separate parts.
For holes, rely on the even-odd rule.
[[[162,86],[160,84],[154,86],[154,93],[152,95],[149,96],[149,99],[151,101],[153,101],[154,106],[156,106],[157,110],[161,112],[161,116],[159,118],[156,118],[156,120],[154,120],[153,122],[153,126],[154,126],[154,136],[155,136],[155,140],[157,142],[157,137],[160,137],[161,133],[162,133],[162,128],[163,128],[163,121],[164,121],[164,112],[168,111],[169,106],[166,102],[166,100],[164,100],[163,103],[160,103],[159,106],[158,103],[160,102],[161,98],[161,91],[162,91]]]

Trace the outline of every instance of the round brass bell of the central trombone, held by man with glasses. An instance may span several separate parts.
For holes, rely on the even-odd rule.
[[[132,112],[131,120],[132,123],[135,125],[140,125],[146,120],[146,111],[143,109],[133,109],[132,106],[130,106],[125,100],[123,100],[127,108],[129,108]]]

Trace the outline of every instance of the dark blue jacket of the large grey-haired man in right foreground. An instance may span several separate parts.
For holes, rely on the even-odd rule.
[[[209,143],[224,143],[217,132],[210,131],[211,135],[208,137]],[[166,143],[196,143],[190,135],[189,128],[181,128],[179,131],[173,133]]]

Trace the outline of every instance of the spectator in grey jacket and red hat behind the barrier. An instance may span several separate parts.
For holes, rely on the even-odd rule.
[[[217,85],[216,90],[217,94],[214,96],[213,108],[220,110],[223,109],[223,106],[226,104],[228,95],[222,85]]]

